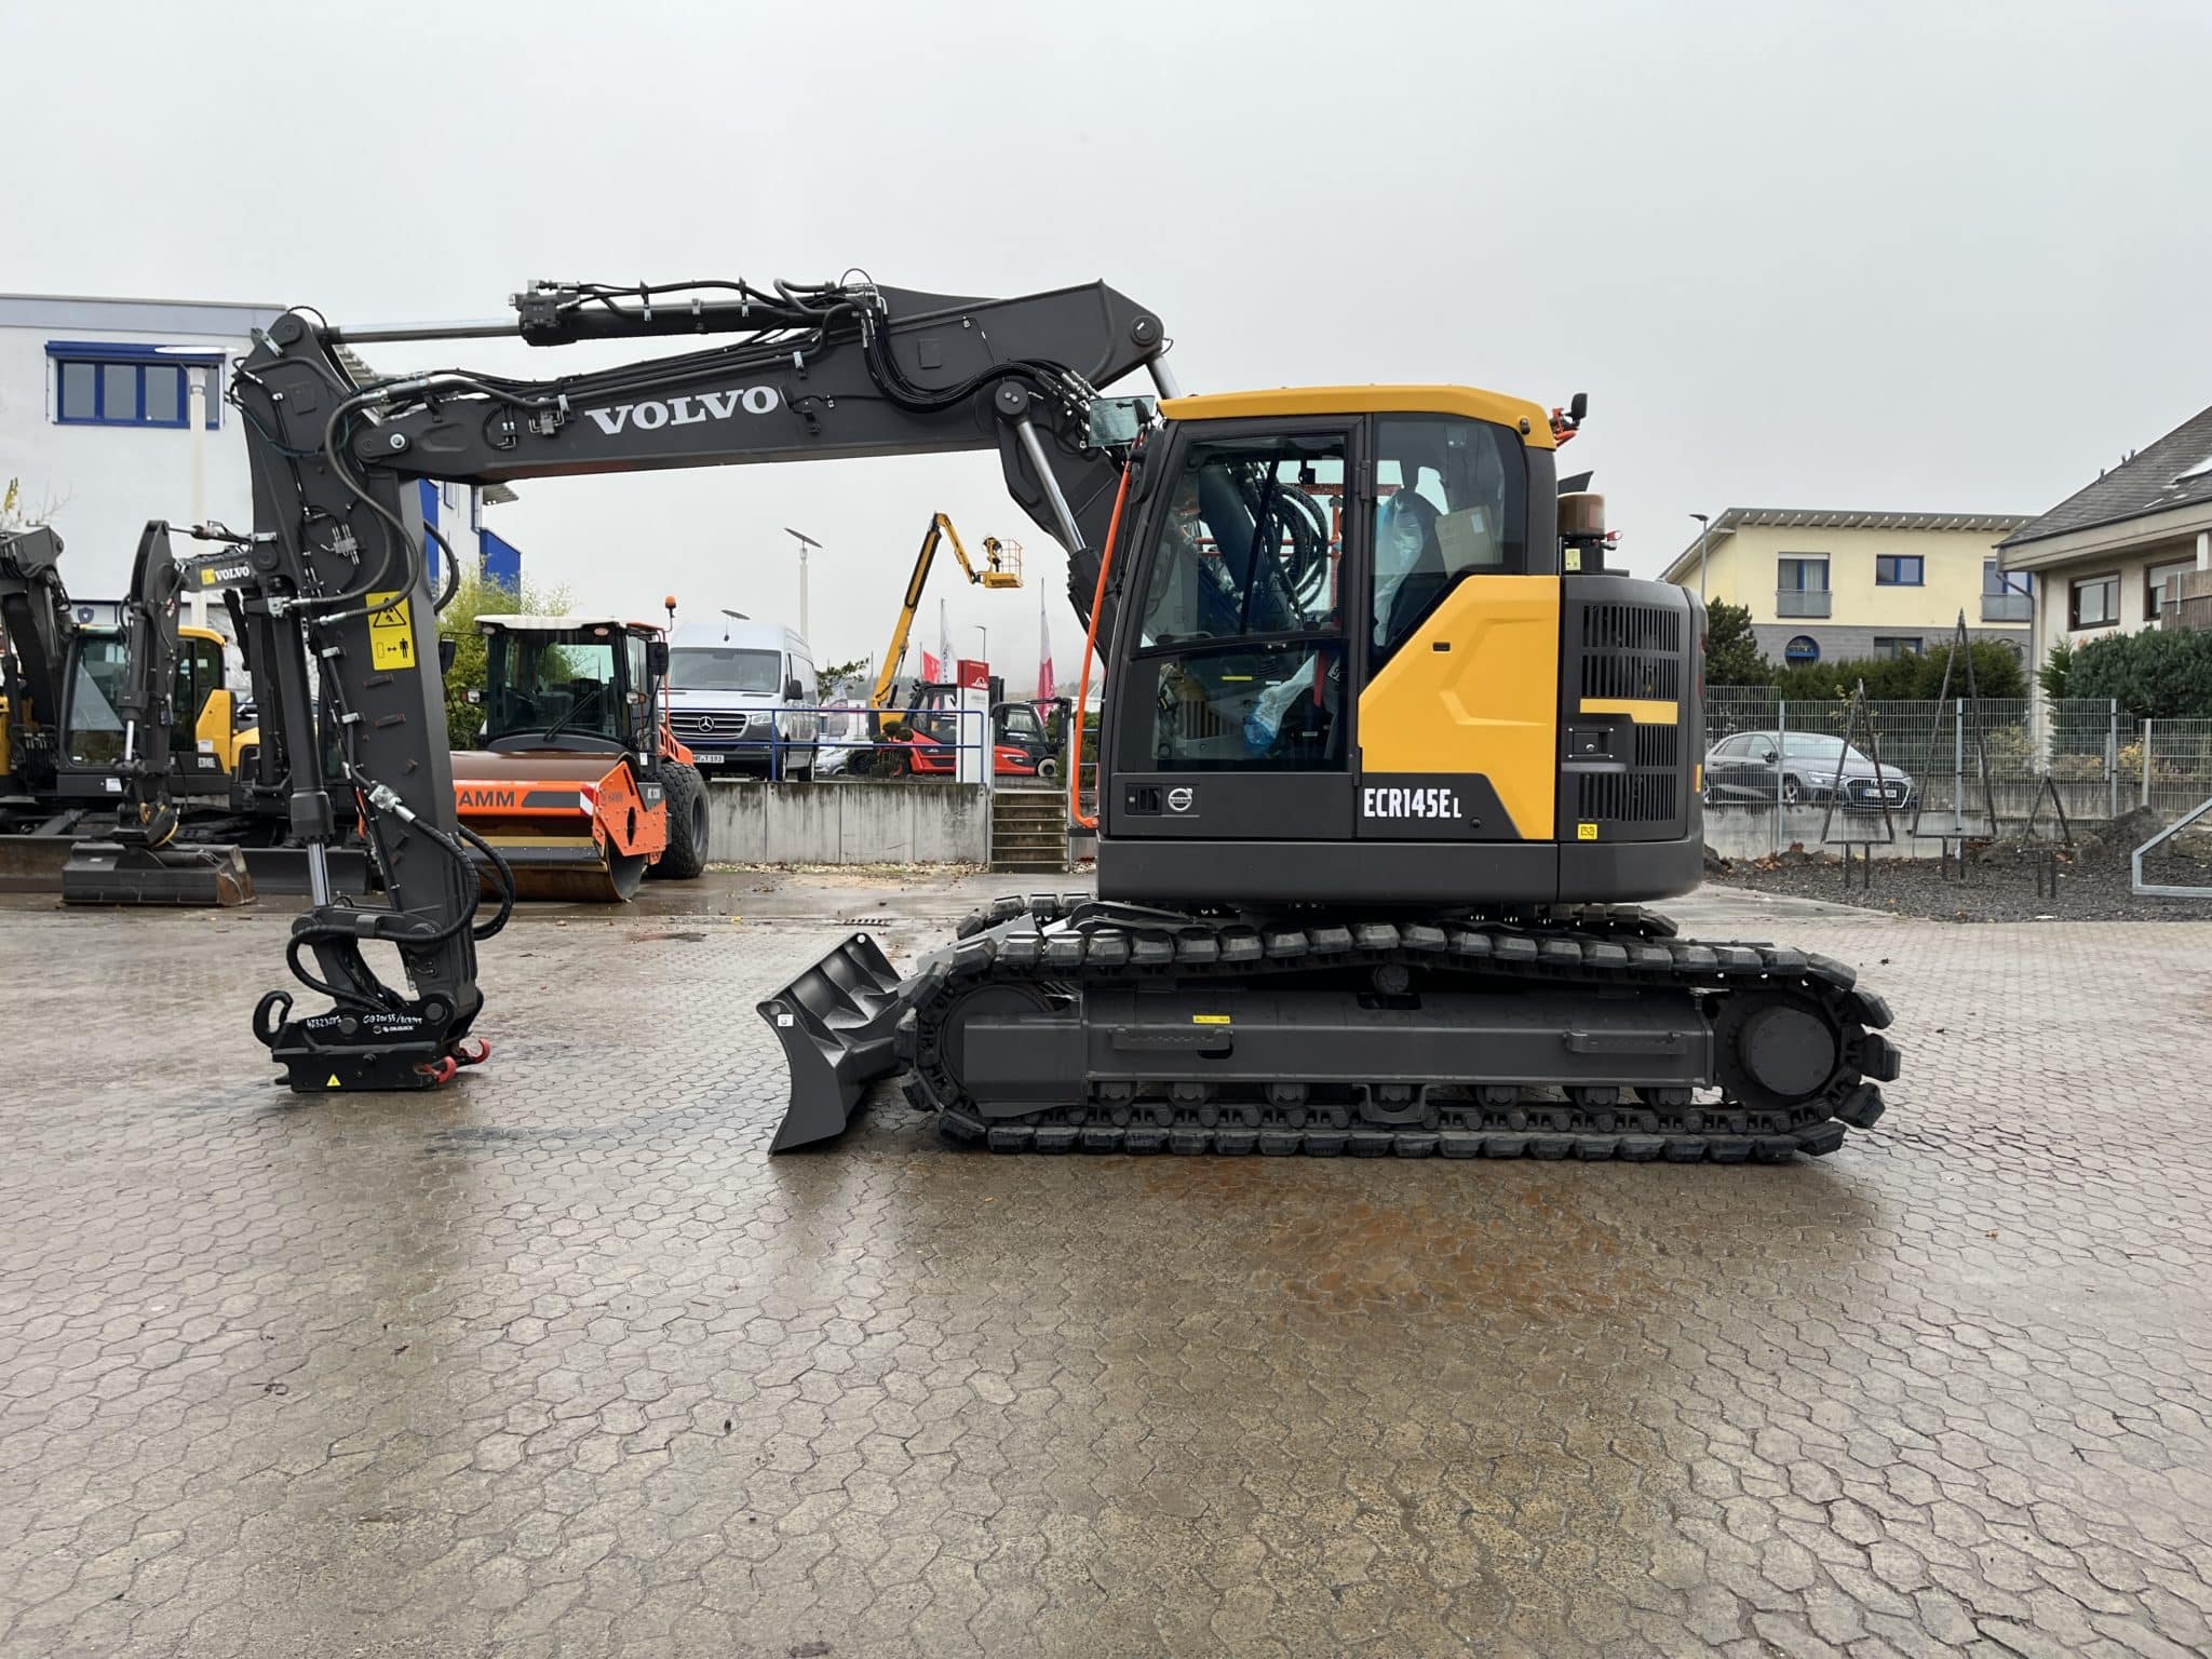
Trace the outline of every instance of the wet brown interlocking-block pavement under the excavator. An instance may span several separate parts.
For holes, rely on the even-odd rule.
[[[533,911],[343,1099],[283,916],[0,907],[0,1652],[2212,1648],[2212,927],[1677,907],[1898,1009],[1783,1168],[770,1161],[752,1004],[967,902]]]

